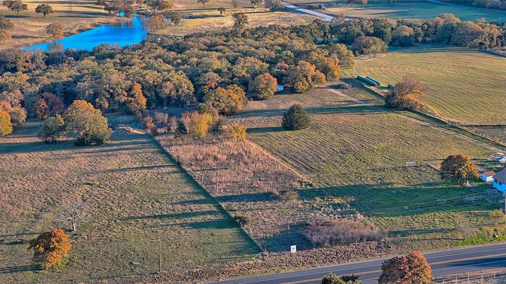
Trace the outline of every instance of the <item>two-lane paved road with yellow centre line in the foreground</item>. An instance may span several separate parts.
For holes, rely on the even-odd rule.
[[[481,246],[466,249],[440,251],[424,254],[435,277],[506,267],[506,244]],[[332,272],[336,275],[355,274],[362,284],[377,284],[381,264],[377,259],[329,267],[313,268],[295,272],[233,279],[216,284],[317,284]]]

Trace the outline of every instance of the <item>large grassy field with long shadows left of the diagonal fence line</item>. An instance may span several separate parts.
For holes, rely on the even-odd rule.
[[[131,117],[109,116],[113,125]],[[115,130],[109,143],[44,144],[31,121],[0,138],[0,272],[3,281],[97,281],[115,275],[181,270],[240,260],[258,247],[151,136]],[[41,272],[26,251],[37,233],[56,227],[67,201],[85,204],[71,234],[66,267]],[[184,249],[182,249],[184,248]],[[76,280],[79,279],[79,280]]]

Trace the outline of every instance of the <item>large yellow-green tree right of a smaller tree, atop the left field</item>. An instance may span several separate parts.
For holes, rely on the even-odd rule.
[[[111,136],[112,129],[107,126],[107,118],[88,102],[74,101],[63,117],[66,130],[76,135],[76,146],[101,145]]]

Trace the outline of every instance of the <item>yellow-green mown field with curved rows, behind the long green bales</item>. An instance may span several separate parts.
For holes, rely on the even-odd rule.
[[[416,75],[426,103],[454,121],[506,123],[506,58],[464,49],[413,49],[357,61],[357,73],[384,85]]]

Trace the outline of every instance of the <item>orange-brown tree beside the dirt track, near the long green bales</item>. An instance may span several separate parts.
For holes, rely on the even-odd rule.
[[[392,109],[417,111],[424,99],[424,86],[414,75],[405,76],[385,97],[385,106]]]

